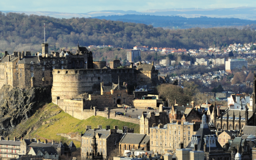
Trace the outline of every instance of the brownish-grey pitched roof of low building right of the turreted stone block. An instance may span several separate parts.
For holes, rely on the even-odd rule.
[[[123,137],[121,138],[120,143],[140,144],[140,142],[142,142],[145,136],[146,134],[125,133],[123,134]]]

